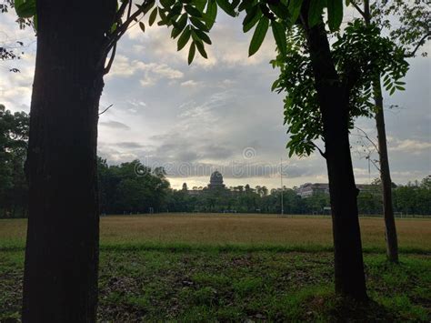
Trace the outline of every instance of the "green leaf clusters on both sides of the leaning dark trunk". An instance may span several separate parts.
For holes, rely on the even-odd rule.
[[[374,116],[373,81],[383,72],[386,91],[403,90],[408,64],[402,48],[380,35],[376,25],[366,26],[356,19],[337,33],[332,56],[340,91],[348,91],[349,126],[358,116]],[[302,29],[294,27],[286,38],[286,55],[272,61],[280,69],[273,91],[286,92],[285,124],[290,139],[289,156],[309,156],[316,140],[323,140],[323,120],[319,110],[315,77]]]

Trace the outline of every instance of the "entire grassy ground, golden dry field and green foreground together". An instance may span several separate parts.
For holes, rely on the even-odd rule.
[[[101,219],[102,321],[431,319],[431,220],[397,220],[389,265],[383,219],[363,218],[367,306],[334,296],[330,220],[161,215]],[[19,318],[25,220],[0,220],[0,321]]]

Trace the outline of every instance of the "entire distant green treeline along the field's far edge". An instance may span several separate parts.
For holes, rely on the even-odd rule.
[[[28,115],[12,114],[0,105],[0,217],[27,216],[25,153]],[[281,190],[266,187],[230,187],[189,191],[170,188],[162,167],[151,169],[138,160],[108,166],[98,159],[98,188],[102,214],[148,212],[238,212],[281,213]],[[186,187],[185,187],[186,188]],[[394,186],[395,212],[404,215],[431,215],[431,177],[406,186]],[[294,189],[283,190],[286,214],[323,214],[329,196],[317,194],[301,198]],[[359,213],[382,213],[378,181],[358,196]],[[328,211],[326,210],[326,213]]]

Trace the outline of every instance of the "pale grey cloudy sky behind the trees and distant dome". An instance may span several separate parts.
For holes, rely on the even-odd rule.
[[[28,112],[35,36],[18,30],[14,21],[14,15],[0,15],[0,45],[24,41],[25,55],[0,62],[0,103]],[[105,77],[100,109],[113,106],[100,117],[99,155],[109,164],[139,158],[164,166],[175,188],[183,182],[205,186],[215,169],[227,186],[279,187],[281,158],[286,187],[326,182],[325,160],[318,154],[287,157],[283,94],[270,91],[277,71],[268,64],[275,56],[269,34],[258,54],[248,58],[251,33],[242,33],[239,19],[219,14],[209,59],[198,57],[187,66],[186,52],[176,52],[165,27],[147,28],[145,34],[139,27],[129,30]],[[430,63],[420,56],[410,60],[406,92],[385,96],[389,158],[398,184],[431,174]],[[21,73],[9,73],[12,67]],[[373,120],[356,125],[376,138]],[[360,151],[356,131],[352,135],[356,182],[369,183],[377,177],[376,168]]]

